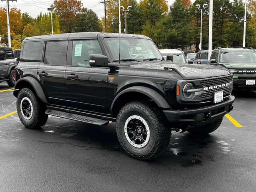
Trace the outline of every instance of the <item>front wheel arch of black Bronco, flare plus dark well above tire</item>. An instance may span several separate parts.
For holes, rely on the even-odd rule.
[[[134,94],[136,94],[136,96],[134,96]],[[144,86],[133,86],[117,94],[111,104],[110,111],[116,116],[124,104],[141,99],[153,100],[153,102],[160,108],[170,108],[170,105],[164,97],[155,90]]]

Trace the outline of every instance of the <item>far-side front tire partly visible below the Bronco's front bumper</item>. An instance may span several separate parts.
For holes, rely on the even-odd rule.
[[[197,128],[194,128],[192,130],[189,130],[191,134],[194,135],[207,135],[209,133],[214,132],[216,129],[219,128],[220,124],[222,123],[223,117],[220,119],[215,120],[214,122],[211,122],[209,124],[199,126]]]

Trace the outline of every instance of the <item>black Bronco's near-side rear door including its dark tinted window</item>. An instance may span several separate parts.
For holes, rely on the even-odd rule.
[[[65,105],[65,70],[68,41],[45,42],[44,60],[37,74],[50,104]]]

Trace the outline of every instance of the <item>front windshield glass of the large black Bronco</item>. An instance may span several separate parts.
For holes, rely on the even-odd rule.
[[[119,60],[118,38],[104,38],[113,60]],[[156,45],[149,39],[120,38],[120,60],[162,59]]]

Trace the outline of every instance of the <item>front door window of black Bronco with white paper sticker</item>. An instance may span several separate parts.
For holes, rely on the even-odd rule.
[[[73,41],[72,65],[90,66],[90,54],[102,54],[97,40]]]

